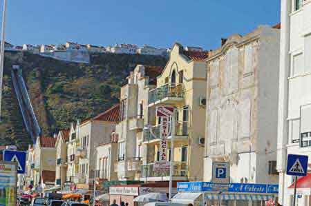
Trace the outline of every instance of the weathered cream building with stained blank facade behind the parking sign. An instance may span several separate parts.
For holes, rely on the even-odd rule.
[[[213,161],[230,163],[232,183],[277,183],[279,29],[234,34],[207,58],[205,181]]]

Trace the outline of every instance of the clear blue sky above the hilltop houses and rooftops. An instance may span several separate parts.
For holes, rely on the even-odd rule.
[[[164,48],[178,41],[209,50],[279,19],[280,0],[8,0],[6,39]]]

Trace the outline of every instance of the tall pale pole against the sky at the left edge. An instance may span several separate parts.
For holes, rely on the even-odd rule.
[[[4,45],[6,37],[6,0],[3,0],[3,13],[2,13],[2,32],[1,32],[1,45],[0,45],[0,121],[1,121],[1,101],[2,101],[2,81],[3,81],[3,64],[4,64]]]

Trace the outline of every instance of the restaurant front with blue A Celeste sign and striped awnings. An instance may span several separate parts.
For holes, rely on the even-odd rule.
[[[223,206],[264,206],[266,201],[274,200],[279,192],[279,185],[230,183],[227,187],[218,187],[213,183],[189,182],[178,183],[178,194],[173,203]]]

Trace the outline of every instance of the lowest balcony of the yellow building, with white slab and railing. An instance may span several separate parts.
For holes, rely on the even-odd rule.
[[[140,181],[167,181],[169,180],[168,172],[155,172],[154,163],[142,165],[142,177]],[[173,180],[187,181],[188,165],[187,162],[173,162]]]

